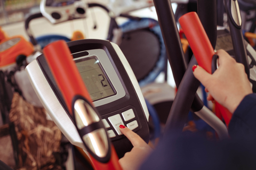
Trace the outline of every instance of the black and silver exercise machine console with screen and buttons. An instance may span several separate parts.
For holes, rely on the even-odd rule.
[[[107,40],[96,39],[71,41],[67,45],[117,155],[122,157],[132,149],[131,142],[119,131],[121,124],[148,142],[147,106],[121,49]],[[73,145],[85,149],[44,55],[38,56],[26,70],[53,121]]]

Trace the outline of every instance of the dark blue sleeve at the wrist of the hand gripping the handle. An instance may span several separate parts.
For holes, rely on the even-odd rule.
[[[231,138],[256,138],[256,94],[245,96],[229,123]]]

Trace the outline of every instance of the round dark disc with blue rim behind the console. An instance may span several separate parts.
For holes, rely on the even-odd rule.
[[[159,73],[164,71],[166,64],[166,50],[158,22],[141,18],[129,20],[119,28],[123,32],[119,47],[140,86],[154,82]]]

